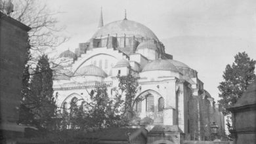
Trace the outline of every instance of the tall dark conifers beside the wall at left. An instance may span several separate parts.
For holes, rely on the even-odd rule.
[[[29,65],[24,69],[19,124],[51,129],[56,110],[53,96],[53,72],[47,56],[41,56],[30,79]]]

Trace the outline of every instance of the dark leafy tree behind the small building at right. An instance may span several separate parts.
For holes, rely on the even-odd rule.
[[[219,94],[221,98],[219,103],[223,105],[224,115],[230,114],[226,108],[234,105],[245,92],[248,84],[253,82],[256,78],[254,71],[255,60],[249,58],[248,54],[245,52],[239,52],[234,58],[235,61],[232,65],[226,65],[223,74],[224,81],[218,86],[221,92],[221,94]]]

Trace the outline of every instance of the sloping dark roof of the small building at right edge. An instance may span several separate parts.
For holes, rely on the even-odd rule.
[[[253,104],[256,104],[256,81],[249,84],[247,90],[244,92],[242,97],[239,98],[238,101],[236,101],[234,106],[232,106],[231,108]]]

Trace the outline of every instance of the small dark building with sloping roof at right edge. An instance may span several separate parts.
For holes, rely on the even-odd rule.
[[[234,143],[256,143],[256,81],[228,110],[232,112]]]

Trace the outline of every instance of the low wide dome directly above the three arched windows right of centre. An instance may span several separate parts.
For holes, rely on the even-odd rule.
[[[155,70],[179,72],[179,70],[175,67],[175,65],[169,62],[169,60],[154,60],[153,62],[146,64],[142,69],[142,72],[155,71]]]

